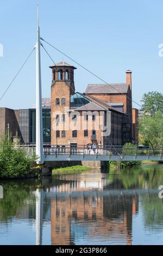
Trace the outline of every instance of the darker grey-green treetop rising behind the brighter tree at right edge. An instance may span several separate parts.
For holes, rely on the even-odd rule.
[[[163,94],[159,92],[149,92],[142,96],[142,110],[154,115],[157,111],[163,113]]]

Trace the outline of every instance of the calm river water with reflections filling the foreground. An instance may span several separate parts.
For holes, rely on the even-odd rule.
[[[0,181],[0,245],[162,245],[163,164]]]

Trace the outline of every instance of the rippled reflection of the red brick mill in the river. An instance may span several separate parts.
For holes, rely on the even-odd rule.
[[[121,187],[121,184],[119,184]],[[81,237],[91,241],[131,245],[132,220],[138,210],[136,194],[109,194],[106,180],[93,182],[70,181],[49,188],[51,195],[51,242],[52,245],[73,245]],[[115,184],[117,189],[117,184]],[[112,187],[114,189],[114,185]],[[96,194],[102,190],[101,196]],[[84,191],[84,192],[83,192]],[[71,192],[71,193],[65,193]],[[54,194],[55,196],[54,196]],[[80,240],[81,241],[81,240]]]

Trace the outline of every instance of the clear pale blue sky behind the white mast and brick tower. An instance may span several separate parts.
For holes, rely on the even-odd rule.
[[[163,91],[163,2],[161,0],[0,0],[0,96],[36,42],[36,4],[40,4],[41,36],[108,83],[126,81],[133,71],[133,99]],[[44,43],[55,62],[66,57]],[[42,96],[51,94],[52,64],[41,50]],[[101,83],[75,65],[75,86]],[[35,104],[35,52],[18,75],[0,107],[28,108]],[[134,107],[138,107],[133,104]],[[138,107],[139,108],[139,107]]]

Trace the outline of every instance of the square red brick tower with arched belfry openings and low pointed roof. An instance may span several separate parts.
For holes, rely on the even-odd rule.
[[[51,86],[51,144],[65,145],[69,137],[66,118],[70,108],[70,96],[74,94],[74,66],[62,61],[49,66],[52,69]]]

